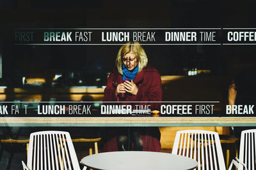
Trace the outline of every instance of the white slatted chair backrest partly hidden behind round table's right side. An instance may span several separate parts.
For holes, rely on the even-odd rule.
[[[195,159],[198,162],[196,169],[226,169],[220,137],[217,132],[178,131],[173,143],[172,153]]]

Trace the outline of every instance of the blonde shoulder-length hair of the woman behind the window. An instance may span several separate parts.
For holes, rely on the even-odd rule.
[[[140,45],[140,43],[138,43],[137,41],[135,42],[129,41],[125,45],[121,46],[116,56],[116,68],[120,74],[123,74],[122,59],[129,52],[133,52],[136,55],[136,59],[138,60],[138,67],[139,67],[138,73],[140,73],[143,67],[146,67],[148,64],[148,57],[145,53],[145,50]]]

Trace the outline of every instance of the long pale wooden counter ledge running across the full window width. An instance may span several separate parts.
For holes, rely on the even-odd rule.
[[[256,117],[1,117],[1,126],[191,127],[255,126]]]

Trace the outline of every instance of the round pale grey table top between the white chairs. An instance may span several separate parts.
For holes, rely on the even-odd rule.
[[[89,155],[81,164],[93,169],[106,170],[184,170],[198,166],[196,160],[163,152],[104,152]]]

